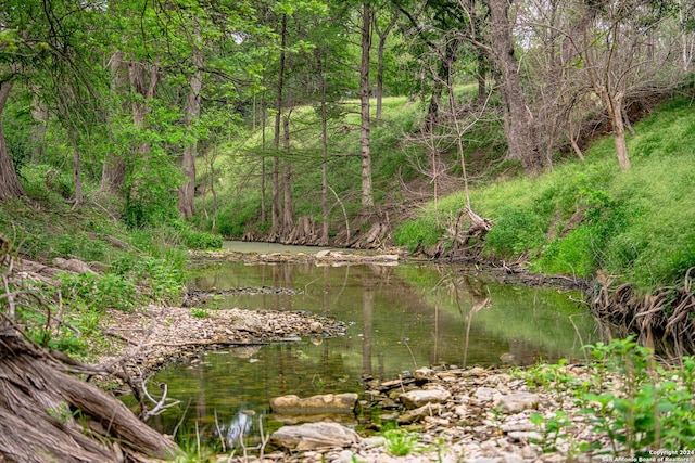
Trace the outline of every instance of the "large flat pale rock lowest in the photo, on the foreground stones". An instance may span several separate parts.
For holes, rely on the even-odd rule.
[[[305,423],[282,426],[270,436],[270,441],[289,450],[350,447],[359,443],[361,437],[353,429],[338,423]]]

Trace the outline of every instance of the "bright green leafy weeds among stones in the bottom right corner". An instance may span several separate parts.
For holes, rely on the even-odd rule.
[[[611,443],[611,455],[649,456],[649,450],[691,449],[695,441],[695,358],[679,368],[660,364],[650,349],[633,337],[585,346],[594,360],[585,378],[569,374],[565,361],[536,365],[520,374],[532,387],[553,389],[572,398],[593,429]],[[572,426],[564,412],[533,413],[532,423],[544,451],[555,451]],[[571,442],[570,442],[571,443]],[[573,450],[589,451],[591,445]]]

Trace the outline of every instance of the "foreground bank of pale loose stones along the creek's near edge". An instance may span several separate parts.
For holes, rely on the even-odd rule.
[[[566,365],[558,373],[581,382],[590,381],[595,372],[590,366]],[[371,433],[368,426],[367,430],[357,434],[349,426],[330,421],[290,425],[270,436],[270,441],[283,451],[257,460],[336,463],[604,461],[602,458],[609,454],[609,442],[592,430],[593,424],[581,413],[572,397],[554,390],[553,385],[546,389],[532,388],[521,376],[482,368],[424,368],[410,377],[384,383],[368,381],[362,404],[378,408],[383,413],[381,420],[397,423],[395,434]],[[319,397],[313,400],[320,402],[321,399],[327,400]],[[539,415],[565,424],[553,430],[536,424]],[[590,445],[597,449],[593,454],[580,450]],[[399,447],[404,446],[410,451],[399,456]],[[602,450],[603,454],[598,456]]]

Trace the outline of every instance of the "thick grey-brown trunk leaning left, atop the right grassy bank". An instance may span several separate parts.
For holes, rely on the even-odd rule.
[[[509,0],[488,0],[492,20],[492,49],[500,67],[502,98],[504,101],[505,134],[509,157],[521,163],[527,175],[539,173],[544,158],[535,141],[533,120],[526,105],[518,62],[514,55]]]

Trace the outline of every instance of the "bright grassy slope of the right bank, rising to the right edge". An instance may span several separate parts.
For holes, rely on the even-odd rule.
[[[695,266],[695,111],[672,100],[635,126],[632,169],[621,172],[611,138],[586,160],[565,162],[536,179],[475,188],[471,205],[494,220],[485,253],[528,257],[532,270],[592,276],[598,269],[642,291],[670,285]],[[396,244],[432,244],[466,204],[462,192],[401,224]]]

